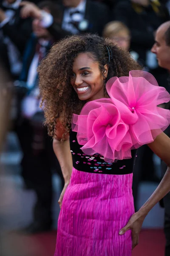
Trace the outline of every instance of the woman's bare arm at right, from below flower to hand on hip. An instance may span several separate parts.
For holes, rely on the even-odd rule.
[[[132,230],[133,248],[138,244],[139,232],[144,218],[154,205],[170,191],[170,138],[166,134],[161,133],[156,137],[154,142],[150,143],[148,146],[167,164],[167,171],[150,198],[138,212],[132,215],[127,225],[119,231],[119,234],[123,235],[127,230]]]

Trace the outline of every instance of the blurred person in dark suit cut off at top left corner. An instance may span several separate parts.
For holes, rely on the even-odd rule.
[[[3,0],[0,3],[0,58],[17,79],[22,69],[22,57],[26,42],[31,35],[31,18],[20,17],[21,0]]]

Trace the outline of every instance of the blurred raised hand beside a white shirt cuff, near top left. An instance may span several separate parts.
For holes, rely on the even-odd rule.
[[[23,6],[23,8],[20,11],[20,16],[23,19],[26,19],[28,17],[41,19],[41,9],[38,8],[38,6],[36,6],[34,3],[23,1],[20,3],[20,6]]]

